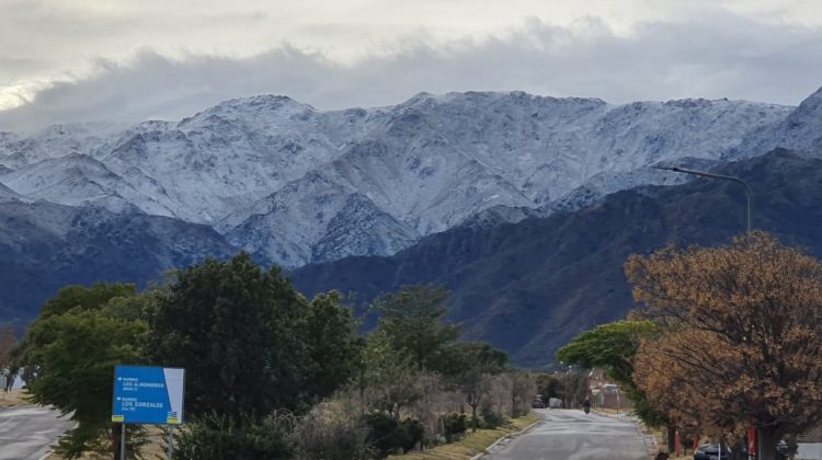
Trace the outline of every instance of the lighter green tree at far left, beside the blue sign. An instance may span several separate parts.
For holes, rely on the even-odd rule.
[[[59,441],[57,451],[67,458],[117,446],[119,430],[111,423],[114,366],[140,363],[147,333],[142,320],[106,309],[118,296],[135,296],[135,289],[119,284],[64,288],[44,304],[21,344],[19,365],[37,372],[28,381],[32,400],[78,422]],[[102,444],[104,437],[111,446]]]

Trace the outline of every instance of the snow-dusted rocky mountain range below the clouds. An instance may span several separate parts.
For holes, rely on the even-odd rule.
[[[513,221],[681,182],[650,166],[765,153],[762,139],[820,123],[808,120],[819,99],[795,110],[422,93],[321,112],[261,95],[181,122],[0,133],[0,197],[205,223],[262,258],[299,266],[392,254],[489,212]]]

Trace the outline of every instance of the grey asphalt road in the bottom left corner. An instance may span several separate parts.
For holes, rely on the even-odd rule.
[[[38,460],[75,422],[46,407],[0,409],[0,459]]]

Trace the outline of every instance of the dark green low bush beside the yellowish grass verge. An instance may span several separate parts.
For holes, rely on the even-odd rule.
[[[374,456],[380,459],[413,449],[425,433],[420,421],[406,418],[397,422],[383,412],[366,415],[365,422],[368,425],[368,442]]]

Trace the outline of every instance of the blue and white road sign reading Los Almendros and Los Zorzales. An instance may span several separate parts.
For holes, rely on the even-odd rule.
[[[185,369],[117,366],[112,422],[180,425],[184,387]]]

